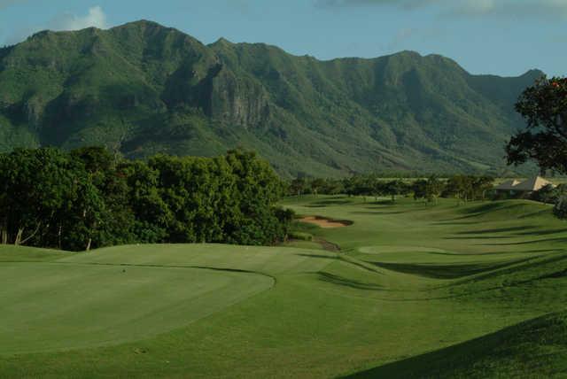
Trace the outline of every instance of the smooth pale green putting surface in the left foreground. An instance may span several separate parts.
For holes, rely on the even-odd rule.
[[[0,277],[0,353],[144,339],[218,312],[273,283],[262,275],[196,268],[58,262],[0,264]]]

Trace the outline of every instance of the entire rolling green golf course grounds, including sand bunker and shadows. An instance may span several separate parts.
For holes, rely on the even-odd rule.
[[[287,197],[277,246],[0,246],[0,377],[565,377],[567,224]]]

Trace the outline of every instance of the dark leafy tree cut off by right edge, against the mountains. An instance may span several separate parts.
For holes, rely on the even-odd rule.
[[[542,77],[524,90],[516,110],[527,128],[506,146],[508,163],[520,165],[533,159],[542,171],[567,174],[567,78]]]

